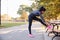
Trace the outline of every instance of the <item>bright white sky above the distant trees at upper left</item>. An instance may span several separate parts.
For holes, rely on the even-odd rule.
[[[19,5],[25,4],[30,6],[33,1],[30,0],[1,0],[1,14],[8,14],[11,17],[19,17],[17,10]]]

